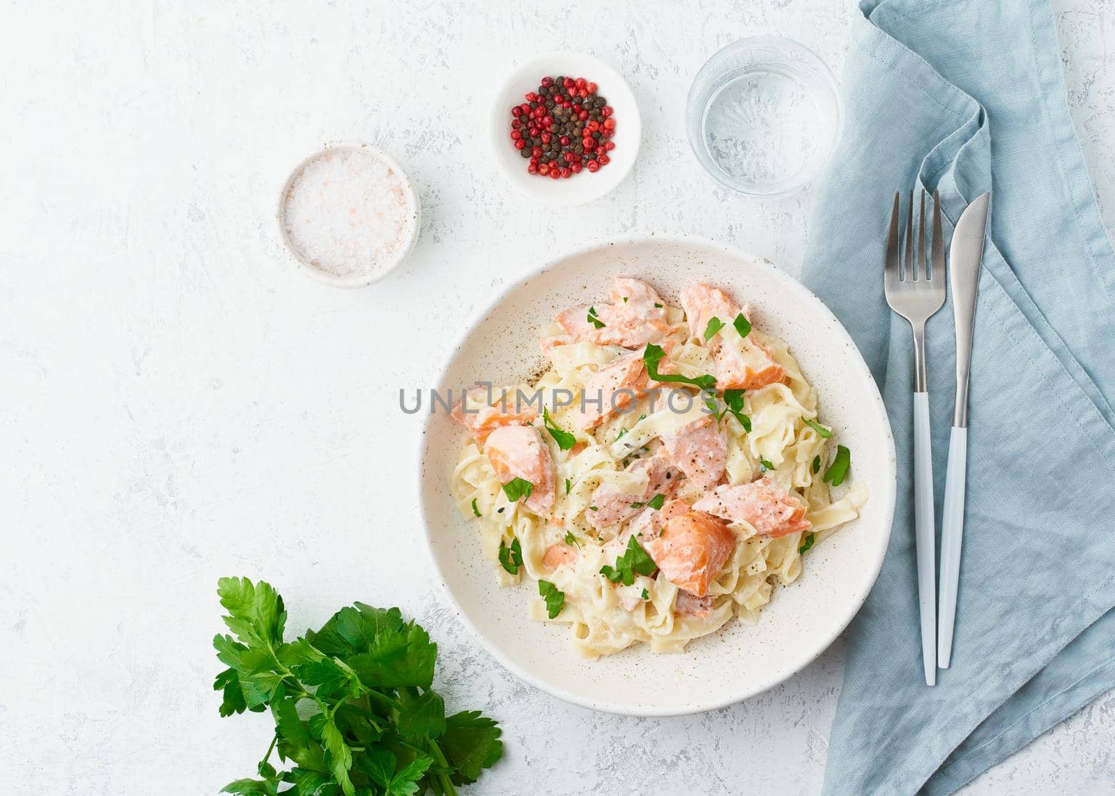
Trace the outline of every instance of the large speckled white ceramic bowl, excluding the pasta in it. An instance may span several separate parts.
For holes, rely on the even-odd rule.
[[[532,584],[500,589],[481,553],[478,528],[462,516],[449,475],[466,433],[430,415],[420,494],[434,566],[460,620],[523,680],[575,705],[633,716],[710,710],[759,693],[796,673],[847,625],[871,590],[894,511],[894,443],[863,358],[828,309],[769,262],[688,237],[614,241],[566,254],[511,285],[465,332],[437,385],[454,394],[476,380],[517,384],[544,360],[535,340],[554,314],[607,295],[612,276],[647,279],[668,301],[696,281],[748,302],[756,324],[785,339],[817,390],[821,418],[852,450],[852,478],[870,494],[860,517],[805,556],[801,579],[775,590],[757,625],[730,622],[681,654],[646,645],[597,661],[580,659],[566,625],[527,619]]]

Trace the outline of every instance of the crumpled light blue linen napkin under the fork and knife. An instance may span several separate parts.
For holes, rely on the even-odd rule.
[[[882,385],[899,498],[850,631],[826,794],[949,794],[1115,687],[1115,252],[1065,99],[1048,0],[861,0],[845,128],[805,281]],[[952,223],[993,188],[980,278],[952,667],[922,679],[911,511],[909,324],[883,298],[895,190]],[[929,323],[941,516],[951,301]],[[855,457],[873,452],[853,452]]]

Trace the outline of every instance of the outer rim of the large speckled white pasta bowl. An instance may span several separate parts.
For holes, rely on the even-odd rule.
[[[811,663],[813,663],[813,661],[815,661],[821,656],[822,652],[828,649],[828,647],[833,643],[833,641],[835,641],[836,638],[842,632],[844,632],[844,629],[847,628],[847,625],[852,622],[852,619],[854,619],[855,614],[860,612],[860,609],[863,608],[863,603],[866,601],[867,595],[871,593],[871,590],[874,586],[875,581],[879,579],[879,573],[882,570],[883,559],[885,557],[886,547],[890,541],[891,527],[893,525],[894,506],[895,506],[895,501],[898,498],[898,470],[896,470],[896,460],[894,450],[894,437],[891,431],[890,416],[886,411],[886,406],[883,402],[882,395],[879,391],[879,386],[875,384],[874,376],[872,376],[871,370],[867,368],[867,363],[864,361],[863,355],[860,353],[860,349],[855,344],[855,341],[852,339],[851,334],[847,333],[847,330],[844,329],[844,324],[840,322],[840,320],[833,314],[832,310],[830,310],[828,307],[823,301],[821,301],[821,299],[818,299],[808,288],[806,288],[804,284],[802,284],[798,280],[794,279],[789,274],[780,271],[770,261],[750,254],[743,250],[736,249],[735,246],[712,241],[699,235],[688,235],[688,234],[624,235],[620,237],[612,237],[612,239],[605,237],[601,240],[593,240],[592,242],[585,243],[584,245],[578,249],[573,249],[571,251],[556,255],[553,259],[549,260],[543,265],[540,265],[533,271],[523,274],[515,282],[511,282],[504,285],[504,289],[497,295],[495,295],[492,299],[492,301],[489,301],[485,307],[483,307],[481,310],[474,313],[474,316],[471,319],[471,322],[464,328],[464,330],[460,332],[460,334],[454,342],[453,347],[449,349],[449,352],[445,358],[444,365],[438,369],[436,377],[437,386],[440,387],[440,385],[444,384],[446,376],[448,375],[448,371],[453,365],[453,361],[456,359],[457,355],[460,352],[468,338],[479,328],[479,326],[485,321],[485,319],[493,311],[495,311],[495,309],[500,305],[500,303],[503,302],[504,299],[512,291],[523,287],[526,282],[537,279],[541,274],[553,268],[559,266],[559,264],[564,261],[574,258],[585,256],[588,254],[597,252],[598,250],[607,249],[609,246],[633,245],[633,244],[646,244],[646,243],[666,243],[666,244],[672,243],[672,244],[706,246],[709,249],[719,250],[725,254],[728,254],[736,259],[754,260],[756,261],[757,268],[769,269],[770,273],[773,273],[776,279],[780,280],[785,284],[785,287],[788,288],[792,292],[796,293],[797,297],[801,299],[801,301],[803,301],[806,304],[811,304],[812,311],[821,313],[821,316],[824,317],[825,320],[831,321],[833,323],[833,328],[837,329],[840,333],[843,334],[843,339],[840,342],[845,344],[849,348],[850,352],[853,355],[851,359],[853,360],[854,367],[856,368],[857,372],[850,375],[850,378],[862,379],[866,384],[869,392],[873,398],[876,416],[881,420],[882,426],[885,429],[888,450],[884,452],[885,453],[884,458],[886,462],[886,473],[888,473],[886,484],[890,487],[886,494],[884,495],[874,495],[874,494],[871,495],[871,499],[873,502],[878,501],[883,502],[883,512],[882,512],[883,527],[879,533],[878,544],[875,545],[874,550],[874,556],[870,561],[865,562],[866,566],[864,567],[864,571],[871,573],[870,579],[867,579],[866,581],[867,585],[864,588],[863,593],[859,595],[859,599],[856,599],[853,603],[851,603],[845,613],[841,615],[838,620],[831,625],[830,631],[824,634],[818,634],[816,642],[808,650],[807,654],[803,654],[802,661],[798,666],[788,669],[784,673],[779,672],[778,674],[772,677],[768,680],[759,681],[758,683],[752,686],[750,688],[744,688],[738,691],[728,692],[725,693],[723,697],[716,699],[706,699],[705,701],[701,702],[691,702],[686,707],[676,710],[638,708],[627,705],[619,705],[615,702],[609,702],[607,700],[601,700],[601,699],[585,698],[574,691],[555,687],[553,683],[547,682],[539,677],[535,677],[531,671],[527,671],[526,669],[524,669],[523,667],[518,666],[513,660],[511,660],[503,652],[500,645],[496,644],[493,640],[491,640],[485,633],[483,633],[479,630],[479,628],[477,628],[468,618],[467,612],[465,611],[464,606],[460,605],[460,603],[458,603],[456,596],[453,594],[453,591],[449,588],[448,582],[446,581],[444,574],[442,573],[442,569],[438,565],[437,561],[437,554],[434,550],[434,537],[430,533],[433,518],[428,513],[428,507],[425,499],[425,486],[424,486],[427,473],[426,439],[429,435],[430,424],[434,418],[433,412],[427,414],[426,419],[423,421],[421,433],[418,438],[419,466],[416,478],[418,487],[418,504],[423,518],[423,534],[426,541],[426,553],[429,559],[430,566],[437,574],[436,580],[438,586],[445,599],[448,601],[448,604],[453,608],[457,619],[462,622],[462,624],[464,624],[468,629],[468,631],[473,634],[473,637],[481,643],[481,645],[485,650],[487,650],[487,652],[493,658],[495,658],[505,669],[507,669],[511,673],[513,673],[515,677],[523,680],[524,682],[527,682],[531,686],[534,686],[535,688],[545,691],[546,693],[558,697],[559,699],[565,702],[569,702],[571,705],[576,705],[582,708],[589,708],[591,710],[599,710],[601,712],[615,714],[620,716],[656,718],[656,717],[669,717],[669,716],[691,716],[694,714],[708,712],[710,710],[717,710],[719,708],[724,708],[729,705],[735,705],[736,702],[740,702],[745,699],[758,696],[785,682],[789,678],[794,677],[803,669],[808,667]],[[648,654],[650,653],[648,652]]]

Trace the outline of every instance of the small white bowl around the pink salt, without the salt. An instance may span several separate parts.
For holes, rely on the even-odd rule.
[[[388,168],[390,168],[398,176],[410,222],[399,242],[398,249],[395,251],[394,256],[391,256],[390,260],[379,263],[376,266],[350,271],[343,274],[334,274],[318,265],[291,240],[287,230],[287,200],[290,195],[291,185],[308,164],[327,153],[343,152],[346,149],[357,151],[369,155],[388,166]],[[401,264],[403,261],[410,254],[411,250],[415,247],[415,243],[418,241],[418,233],[421,230],[421,207],[418,203],[418,192],[415,190],[414,183],[410,181],[410,177],[407,176],[403,166],[400,166],[394,157],[379,147],[371,146],[370,144],[341,140],[326,144],[322,149],[314,152],[294,167],[294,169],[290,173],[290,176],[287,177],[287,182],[283,183],[282,192],[279,194],[279,211],[277,214],[277,221],[279,223],[279,234],[282,235],[283,243],[287,245],[287,251],[290,252],[291,256],[298,263],[299,269],[303,273],[312,276],[319,282],[332,285],[333,288],[363,288],[384,279],[384,276],[397,269],[399,264]]]

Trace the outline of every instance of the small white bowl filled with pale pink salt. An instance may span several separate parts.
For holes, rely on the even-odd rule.
[[[395,158],[370,144],[334,142],[291,172],[279,195],[278,221],[304,273],[334,288],[363,288],[406,260],[418,240],[421,210],[414,183]]]

